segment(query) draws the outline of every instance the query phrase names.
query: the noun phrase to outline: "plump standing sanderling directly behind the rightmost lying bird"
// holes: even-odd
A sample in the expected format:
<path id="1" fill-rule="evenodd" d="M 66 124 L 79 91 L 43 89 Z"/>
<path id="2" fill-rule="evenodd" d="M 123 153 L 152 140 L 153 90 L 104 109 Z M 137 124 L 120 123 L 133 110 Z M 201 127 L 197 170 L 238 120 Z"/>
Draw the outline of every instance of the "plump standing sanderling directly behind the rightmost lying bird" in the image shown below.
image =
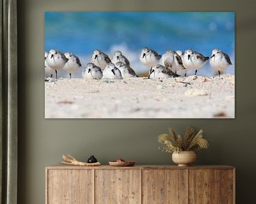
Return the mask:
<path id="1" fill-rule="evenodd" d="M 173 72 L 177 72 L 179 70 L 186 69 L 183 66 L 181 56 L 179 56 L 175 51 L 168 50 L 164 53 L 163 57 L 161 57 L 162 63 L 165 67 L 168 67 Z"/>

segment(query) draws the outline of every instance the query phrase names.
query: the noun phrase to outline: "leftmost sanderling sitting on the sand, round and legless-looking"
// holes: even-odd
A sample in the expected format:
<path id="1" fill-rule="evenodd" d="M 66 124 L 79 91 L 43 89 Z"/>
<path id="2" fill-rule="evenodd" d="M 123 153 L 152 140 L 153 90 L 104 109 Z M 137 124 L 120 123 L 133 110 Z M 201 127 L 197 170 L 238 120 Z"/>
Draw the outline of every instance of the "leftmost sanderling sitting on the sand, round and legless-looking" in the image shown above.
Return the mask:
<path id="1" fill-rule="evenodd" d="M 93 63 L 88 63 L 84 69 L 82 69 L 82 78 L 84 79 L 101 79 L 102 70 Z"/>

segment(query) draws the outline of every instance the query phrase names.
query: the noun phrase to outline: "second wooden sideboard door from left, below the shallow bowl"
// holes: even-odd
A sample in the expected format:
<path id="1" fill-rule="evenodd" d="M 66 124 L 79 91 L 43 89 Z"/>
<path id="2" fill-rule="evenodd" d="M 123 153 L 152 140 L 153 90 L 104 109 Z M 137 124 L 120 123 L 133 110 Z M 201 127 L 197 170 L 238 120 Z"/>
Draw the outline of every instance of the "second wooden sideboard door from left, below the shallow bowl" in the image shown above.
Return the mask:
<path id="1" fill-rule="evenodd" d="M 140 172 L 139 169 L 95 170 L 95 203 L 140 203 Z"/>

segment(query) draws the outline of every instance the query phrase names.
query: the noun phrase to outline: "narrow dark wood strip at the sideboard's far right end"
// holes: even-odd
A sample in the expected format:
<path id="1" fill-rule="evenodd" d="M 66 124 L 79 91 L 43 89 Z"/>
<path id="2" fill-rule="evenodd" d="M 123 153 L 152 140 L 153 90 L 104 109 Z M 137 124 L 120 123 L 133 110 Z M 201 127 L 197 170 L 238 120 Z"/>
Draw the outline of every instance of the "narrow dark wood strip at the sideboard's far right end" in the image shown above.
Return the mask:
<path id="1" fill-rule="evenodd" d="M 220 203 L 233 204 L 235 193 L 234 172 L 230 169 L 220 171 Z"/>

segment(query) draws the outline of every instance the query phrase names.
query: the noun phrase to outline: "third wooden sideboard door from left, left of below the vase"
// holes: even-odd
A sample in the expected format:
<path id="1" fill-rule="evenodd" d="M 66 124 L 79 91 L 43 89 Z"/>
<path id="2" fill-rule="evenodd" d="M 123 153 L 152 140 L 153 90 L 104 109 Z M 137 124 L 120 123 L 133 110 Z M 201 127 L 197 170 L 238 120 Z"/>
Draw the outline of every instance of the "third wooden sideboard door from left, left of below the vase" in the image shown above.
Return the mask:
<path id="1" fill-rule="evenodd" d="M 185 169 L 144 169 L 142 171 L 142 203 L 184 204 L 188 202 Z"/>

